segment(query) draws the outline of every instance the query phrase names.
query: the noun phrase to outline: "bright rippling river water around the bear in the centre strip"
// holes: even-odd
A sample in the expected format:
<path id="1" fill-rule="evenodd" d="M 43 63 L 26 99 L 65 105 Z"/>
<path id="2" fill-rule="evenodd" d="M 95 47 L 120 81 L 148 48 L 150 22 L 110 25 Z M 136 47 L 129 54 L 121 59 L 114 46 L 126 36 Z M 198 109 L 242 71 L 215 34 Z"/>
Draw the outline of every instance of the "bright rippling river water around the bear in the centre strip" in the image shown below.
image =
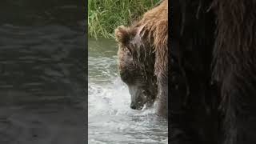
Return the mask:
<path id="1" fill-rule="evenodd" d="M 117 51 L 114 41 L 89 39 L 89 143 L 167 143 L 167 122 L 154 108 L 130 109 L 128 88 L 118 76 Z"/>

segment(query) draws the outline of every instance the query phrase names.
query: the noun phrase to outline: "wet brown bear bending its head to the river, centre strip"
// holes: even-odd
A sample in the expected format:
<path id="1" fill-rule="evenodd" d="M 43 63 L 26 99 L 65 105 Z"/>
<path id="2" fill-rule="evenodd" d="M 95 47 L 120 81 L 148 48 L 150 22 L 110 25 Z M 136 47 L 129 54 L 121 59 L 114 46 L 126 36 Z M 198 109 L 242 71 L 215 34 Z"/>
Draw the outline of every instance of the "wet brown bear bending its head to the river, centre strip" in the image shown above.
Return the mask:
<path id="1" fill-rule="evenodd" d="M 118 68 L 129 87 L 131 108 L 141 109 L 157 98 L 159 115 L 168 112 L 168 0 L 147 11 L 132 26 L 115 30 Z"/>

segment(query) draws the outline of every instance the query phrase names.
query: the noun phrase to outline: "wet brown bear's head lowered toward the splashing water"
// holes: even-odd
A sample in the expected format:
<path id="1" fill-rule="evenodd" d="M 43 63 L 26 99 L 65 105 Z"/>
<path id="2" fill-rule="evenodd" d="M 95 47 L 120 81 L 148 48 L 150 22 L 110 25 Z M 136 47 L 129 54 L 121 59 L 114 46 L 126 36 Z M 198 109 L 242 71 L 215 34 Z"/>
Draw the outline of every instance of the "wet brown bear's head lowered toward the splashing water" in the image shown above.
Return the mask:
<path id="1" fill-rule="evenodd" d="M 130 108 L 151 106 L 158 94 L 154 75 L 154 51 L 139 34 L 143 26 L 119 26 L 115 30 L 118 49 L 118 70 L 131 95 Z"/>

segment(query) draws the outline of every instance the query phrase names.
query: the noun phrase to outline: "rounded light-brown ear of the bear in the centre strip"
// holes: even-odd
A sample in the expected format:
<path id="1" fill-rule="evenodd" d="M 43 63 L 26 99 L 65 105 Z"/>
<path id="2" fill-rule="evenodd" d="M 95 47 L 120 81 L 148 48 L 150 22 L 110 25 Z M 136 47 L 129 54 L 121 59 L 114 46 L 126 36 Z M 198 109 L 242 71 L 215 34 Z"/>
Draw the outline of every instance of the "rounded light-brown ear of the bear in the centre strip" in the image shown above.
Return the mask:
<path id="1" fill-rule="evenodd" d="M 125 46 L 130 41 L 130 33 L 125 26 L 118 26 L 118 28 L 114 30 L 114 34 L 116 41 Z"/>

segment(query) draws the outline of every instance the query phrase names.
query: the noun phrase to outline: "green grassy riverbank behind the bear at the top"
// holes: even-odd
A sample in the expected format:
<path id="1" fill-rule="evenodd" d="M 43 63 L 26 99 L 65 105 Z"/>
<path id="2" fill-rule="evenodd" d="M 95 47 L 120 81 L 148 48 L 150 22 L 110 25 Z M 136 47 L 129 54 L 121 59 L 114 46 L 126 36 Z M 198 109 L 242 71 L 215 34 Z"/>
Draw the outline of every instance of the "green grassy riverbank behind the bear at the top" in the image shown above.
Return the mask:
<path id="1" fill-rule="evenodd" d="M 92 38 L 114 38 L 117 26 L 130 25 L 159 0 L 89 0 L 88 35 Z"/>

